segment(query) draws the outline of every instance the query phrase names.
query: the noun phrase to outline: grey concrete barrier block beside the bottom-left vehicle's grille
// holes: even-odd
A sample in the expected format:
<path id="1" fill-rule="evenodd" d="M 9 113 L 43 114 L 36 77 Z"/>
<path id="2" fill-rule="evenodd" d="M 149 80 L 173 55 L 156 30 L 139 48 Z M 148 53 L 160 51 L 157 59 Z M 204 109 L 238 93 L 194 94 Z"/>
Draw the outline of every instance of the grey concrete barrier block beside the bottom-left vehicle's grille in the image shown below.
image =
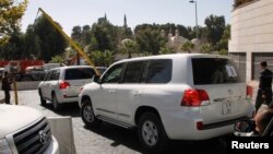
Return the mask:
<path id="1" fill-rule="evenodd" d="M 47 118 L 51 132 L 59 143 L 60 154 L 76 154 L 71 117 Z"/>

